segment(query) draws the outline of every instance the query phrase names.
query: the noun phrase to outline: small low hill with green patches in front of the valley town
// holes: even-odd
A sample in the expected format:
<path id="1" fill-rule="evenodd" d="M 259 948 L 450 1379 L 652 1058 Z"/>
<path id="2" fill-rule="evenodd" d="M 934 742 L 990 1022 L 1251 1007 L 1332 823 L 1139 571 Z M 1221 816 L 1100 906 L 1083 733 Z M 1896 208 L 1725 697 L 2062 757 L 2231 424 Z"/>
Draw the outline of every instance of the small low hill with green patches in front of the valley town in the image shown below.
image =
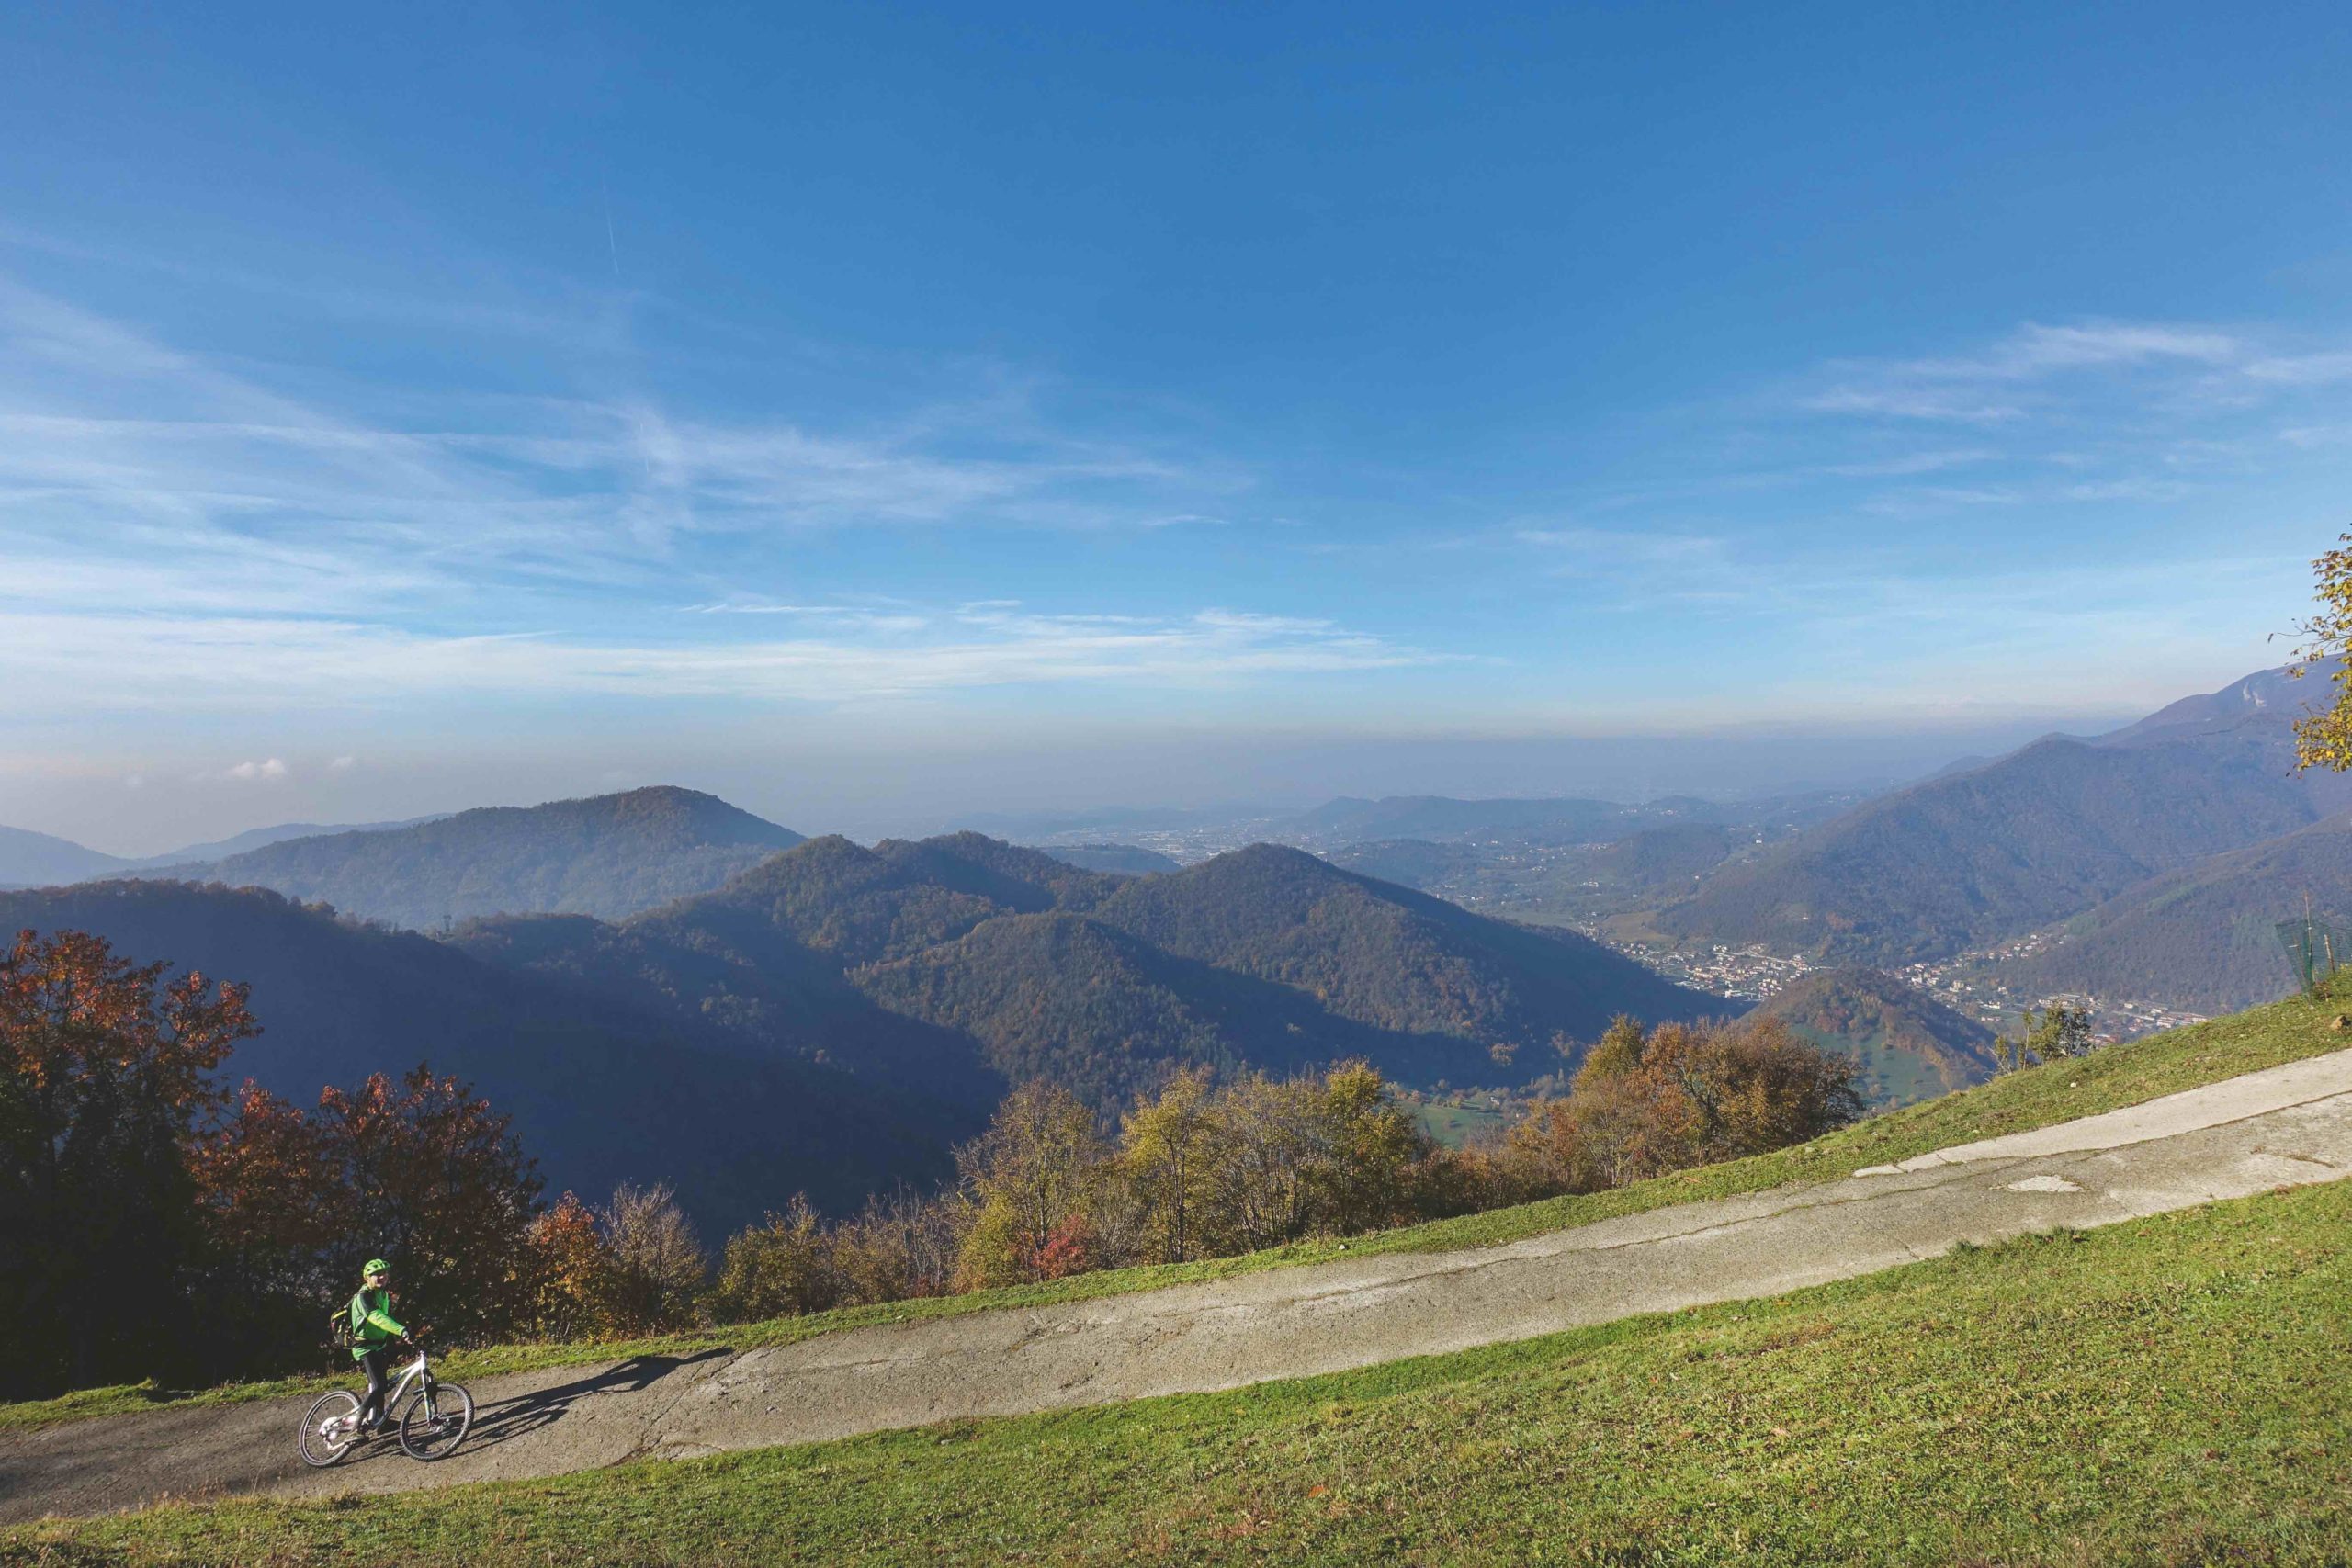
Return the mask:
<path id="1" fill-rule="evenodd" d="M 1757 1004 L 1799 1034 L 1860 1060 L 1872 1105 L 1910 1105 L 1983 1084 L 1992 1030 L 1879 969 L 1816 969 Z"/>

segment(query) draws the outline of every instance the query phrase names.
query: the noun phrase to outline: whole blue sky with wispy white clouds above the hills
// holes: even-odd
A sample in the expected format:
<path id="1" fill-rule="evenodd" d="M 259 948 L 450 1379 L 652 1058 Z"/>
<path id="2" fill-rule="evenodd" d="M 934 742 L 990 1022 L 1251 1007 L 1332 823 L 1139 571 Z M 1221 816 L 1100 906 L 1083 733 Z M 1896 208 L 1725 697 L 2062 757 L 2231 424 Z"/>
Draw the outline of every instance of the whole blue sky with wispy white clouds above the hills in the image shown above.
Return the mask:
<path id="1" fill-rule="evenodd" d="M 2345 527 L 2345 80 L 2340 7 L 14 7 L 0 820 L 2129 715 Z"/>

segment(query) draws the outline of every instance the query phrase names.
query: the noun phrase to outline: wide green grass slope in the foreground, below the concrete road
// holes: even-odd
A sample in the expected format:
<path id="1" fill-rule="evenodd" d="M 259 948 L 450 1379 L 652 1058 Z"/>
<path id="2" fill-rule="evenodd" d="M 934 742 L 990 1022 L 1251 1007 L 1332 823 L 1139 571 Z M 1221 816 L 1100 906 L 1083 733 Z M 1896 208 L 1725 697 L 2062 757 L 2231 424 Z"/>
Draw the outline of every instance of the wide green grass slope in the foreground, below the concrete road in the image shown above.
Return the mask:
<path id="1" fill-rule="evenodd" d="M 2340 1563 L 2352 1190 L 1230 1394 L 0 1537 L 96 1563 Z"/>

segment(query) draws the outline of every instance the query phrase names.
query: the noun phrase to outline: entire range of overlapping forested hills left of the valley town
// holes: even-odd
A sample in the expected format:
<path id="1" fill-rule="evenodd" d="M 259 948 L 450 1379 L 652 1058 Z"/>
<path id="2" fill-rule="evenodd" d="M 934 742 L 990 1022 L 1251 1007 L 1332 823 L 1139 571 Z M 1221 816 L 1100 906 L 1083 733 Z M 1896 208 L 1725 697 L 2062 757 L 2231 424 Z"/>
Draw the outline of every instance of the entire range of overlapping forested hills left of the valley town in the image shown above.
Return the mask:
<path id="1" fill-rule="evenodd" d="M 649 898 L 654 877 L 708 875 L 724 835 L 717 849 L 757 860 L 619 919 L 477 914 L 442 940 L 348 919 Z M 249 980 L 266 1034 L 233 1074 L 308 1103 L 430 1060 L 510 1112 L 557 1187 L 673 1180 L 713 1229 L 795 1190 L 844 1208 L 936 1180 L 1030 1077 L 1105 1117 L 1195 1063 L 1359 1056 L 1418 1086 L 1524 1084 L 1559 1067 L 1555 1041 L 1573 1056 L 1621 1011 L 1724 1011 L 1581 936 L 1296 849 L 1127 877 L 971 832 L 757 844 L 774 835 L 710 797 L 640 790 L 289 839 L 221 860 L 207 884 L 0 893 L 0 922 Z M 223 886 L 256 865 L 346 917 Z"/>

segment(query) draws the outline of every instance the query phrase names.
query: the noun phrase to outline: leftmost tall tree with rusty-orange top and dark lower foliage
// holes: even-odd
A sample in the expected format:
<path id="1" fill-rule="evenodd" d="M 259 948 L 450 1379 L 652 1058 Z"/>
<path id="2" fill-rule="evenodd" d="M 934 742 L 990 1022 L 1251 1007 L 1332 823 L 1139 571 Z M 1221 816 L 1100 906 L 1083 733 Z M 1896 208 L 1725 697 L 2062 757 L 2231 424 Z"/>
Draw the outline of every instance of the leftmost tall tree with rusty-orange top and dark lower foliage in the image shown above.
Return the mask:
<path id="1" fill-rule="evenodd" d="M 146 1375 L 198 1246 L 188 1152 L 256 1025 L 242 985 L 85 931 L 0 954 L 0 1394 Z"/>

